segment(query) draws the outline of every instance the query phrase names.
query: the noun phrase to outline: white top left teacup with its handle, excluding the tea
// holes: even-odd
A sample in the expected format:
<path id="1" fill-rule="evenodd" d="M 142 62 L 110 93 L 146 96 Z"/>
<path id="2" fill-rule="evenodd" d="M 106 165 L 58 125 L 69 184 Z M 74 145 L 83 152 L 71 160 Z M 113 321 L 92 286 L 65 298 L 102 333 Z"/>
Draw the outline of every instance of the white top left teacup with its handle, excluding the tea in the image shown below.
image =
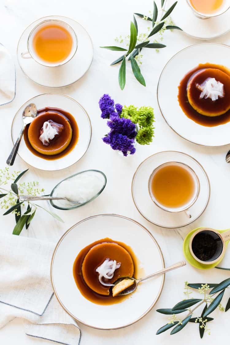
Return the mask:
<path id="1" fill-rule="evenodd" d="M 57 25 L 57 26 L 65 29 L 65 30 L 67 30 L 68 33 L 70 34 L 71 38 L 72 38 L 71 50 L 70 50 L 68 56 L 62 61 L 58 61 L 58 62 L 45 61 L 44 59 L 41 59 L 38 56 L 37 52 L 34 49 L 33 41 L 34 41 L 34 37 L 35 37 L 36 33 L 48 25 Z M 58 20 L 58 19 L 47 19 L 47 20 L 44 20 L 44 21 L 40 22 L 39 24 L 37 24 L 31 30 L 31 32 L 28 36 L 28 39 L 27 39 L 28 51 L 22 52 L 21 56 L 23 59 L 31 59 L 32 58 L 36 62 L 40 63 L 40 65 L 43 65 L 46 67 L 58 67 L 58 66 L 64 65 L 65 63 L 69 62 L 73 58 L 73 56 L 75 55 L 75 53 L 77 51 L 77 47 L 78 47 L 77 35 L 76 35 L 75 31 L 73 30 L 73 28 L 69 24 L 67 24 L 66 22 L 64 22 L 62 20 Z"/>

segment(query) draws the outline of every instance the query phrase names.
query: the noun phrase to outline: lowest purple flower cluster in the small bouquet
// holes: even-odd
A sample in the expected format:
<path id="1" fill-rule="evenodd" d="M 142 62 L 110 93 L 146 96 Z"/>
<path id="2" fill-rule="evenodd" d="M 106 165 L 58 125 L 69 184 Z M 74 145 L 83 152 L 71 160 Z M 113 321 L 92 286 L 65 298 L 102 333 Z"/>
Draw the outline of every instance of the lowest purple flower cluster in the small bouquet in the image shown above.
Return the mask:
<path id="1" fill-rule="evenodd" d="M 124 156 L 133 155 L 136 152 L 136 149 L 133 146 L 134 139 L 127 138 L 126 135 L 122 135 L 116 132 L 109 132 L 109 134 L 102 138 L 102 140 L 111 146 L 113 150 L 122 151 Z"/>

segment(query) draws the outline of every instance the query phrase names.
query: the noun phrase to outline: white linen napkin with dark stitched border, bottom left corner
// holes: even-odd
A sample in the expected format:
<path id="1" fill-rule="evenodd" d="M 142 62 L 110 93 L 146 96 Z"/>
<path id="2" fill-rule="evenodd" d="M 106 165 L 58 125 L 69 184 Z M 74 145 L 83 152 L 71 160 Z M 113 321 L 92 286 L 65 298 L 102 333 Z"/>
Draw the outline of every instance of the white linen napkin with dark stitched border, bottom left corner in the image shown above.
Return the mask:
<path id="1" fill-rule="evenodd" d="M 20 317 L 27 335 L 78 345 L 80 328 L 62 309 L 51 286 L 54 247 L 27 237 L 0 236 L 0 328 Z"/>

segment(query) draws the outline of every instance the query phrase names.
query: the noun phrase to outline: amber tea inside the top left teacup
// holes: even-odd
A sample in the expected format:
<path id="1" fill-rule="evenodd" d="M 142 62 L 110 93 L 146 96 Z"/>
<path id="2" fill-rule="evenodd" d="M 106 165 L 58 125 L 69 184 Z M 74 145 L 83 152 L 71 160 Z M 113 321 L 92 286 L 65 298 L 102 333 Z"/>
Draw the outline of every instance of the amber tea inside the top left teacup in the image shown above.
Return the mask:
<path id="1" fill-rule="evenodd" d="M 36 54 L 46 62 L 64 61 L 69 56 L 72 45 L 71 34 L 60 25 L 43 26 L 33 38 Z"/>

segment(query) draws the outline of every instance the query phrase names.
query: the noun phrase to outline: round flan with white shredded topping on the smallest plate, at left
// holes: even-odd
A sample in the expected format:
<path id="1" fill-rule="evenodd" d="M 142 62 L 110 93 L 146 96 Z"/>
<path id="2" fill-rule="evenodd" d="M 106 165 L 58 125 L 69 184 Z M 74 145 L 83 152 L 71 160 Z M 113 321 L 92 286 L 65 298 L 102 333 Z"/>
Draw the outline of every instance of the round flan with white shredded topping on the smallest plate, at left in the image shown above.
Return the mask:
<path id="1" fill-rule="evenodd" d="M 69 146 L 71 139 L 69 120 L 54 111 L 38 115 L 28 129 L 30 145 L 43 155 L 59 154 Z"/>

